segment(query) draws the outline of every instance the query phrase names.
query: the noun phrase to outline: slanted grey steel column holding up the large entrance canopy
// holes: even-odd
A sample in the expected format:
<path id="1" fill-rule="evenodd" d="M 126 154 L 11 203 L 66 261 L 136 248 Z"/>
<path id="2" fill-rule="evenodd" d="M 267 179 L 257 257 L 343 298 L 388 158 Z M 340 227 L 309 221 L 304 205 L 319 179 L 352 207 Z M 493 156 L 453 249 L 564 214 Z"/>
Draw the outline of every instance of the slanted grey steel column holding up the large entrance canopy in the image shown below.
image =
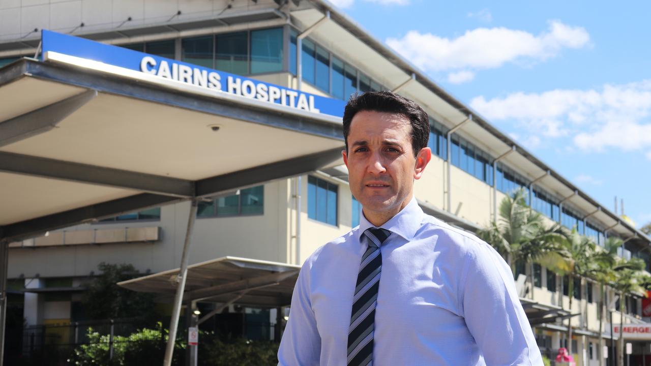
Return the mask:
<path id="1" fill-rule="evenodd" d="M 165 348 L 165 359 L 163 366 L 172 365 L 172 356 L 174 354 L 174 342 L 176 341 L 176 330 L 178 328 L 178 317 L 181 314 L 181 305 L 183 302 L 183 292 L 186 290 L 187 278 L 187 256 L 189 255 L 190 242 L 192 238 L 192 229 L 197 218 L 197 204 L 199 201 L 193 199 L 190 201 L 190 214 L 187 218 L 186 241 L 183 245 L 183 254 L 181 256 L 181 268 L 176 276 L 176 296 L 174 296 L 174 307 L 172 309 L 172 318 L 169 322 L 169 339 L 167 339 L 167 348 Z"/>

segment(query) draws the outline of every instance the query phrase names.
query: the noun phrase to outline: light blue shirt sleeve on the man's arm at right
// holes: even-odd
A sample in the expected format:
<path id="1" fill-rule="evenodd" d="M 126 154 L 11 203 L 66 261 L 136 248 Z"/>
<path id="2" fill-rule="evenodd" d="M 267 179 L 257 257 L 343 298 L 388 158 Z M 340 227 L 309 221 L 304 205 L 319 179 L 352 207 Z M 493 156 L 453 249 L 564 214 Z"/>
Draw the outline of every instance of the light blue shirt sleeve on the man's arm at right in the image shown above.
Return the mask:
<path id="1" fill-rule="evenodd" d="M 510 268 L 488 244 L 472 247 L 462 275 L 462 306 L 486 365 L 542 366 Z"/>

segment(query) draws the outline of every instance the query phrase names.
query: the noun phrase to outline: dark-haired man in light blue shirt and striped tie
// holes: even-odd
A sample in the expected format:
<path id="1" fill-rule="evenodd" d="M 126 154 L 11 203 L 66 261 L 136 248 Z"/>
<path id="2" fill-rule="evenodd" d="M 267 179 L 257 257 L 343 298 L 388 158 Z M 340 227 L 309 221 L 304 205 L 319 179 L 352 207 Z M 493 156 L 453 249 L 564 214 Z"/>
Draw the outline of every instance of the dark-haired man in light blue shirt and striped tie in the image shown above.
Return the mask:
<path id="1" fill-rule="evenodd" d="M 413 197 L 432 158 L 427 114 L 368 92 L 343 122 L 363 217 L 305 260 L 279 365 L 542 365 L 505 261 Z"/>

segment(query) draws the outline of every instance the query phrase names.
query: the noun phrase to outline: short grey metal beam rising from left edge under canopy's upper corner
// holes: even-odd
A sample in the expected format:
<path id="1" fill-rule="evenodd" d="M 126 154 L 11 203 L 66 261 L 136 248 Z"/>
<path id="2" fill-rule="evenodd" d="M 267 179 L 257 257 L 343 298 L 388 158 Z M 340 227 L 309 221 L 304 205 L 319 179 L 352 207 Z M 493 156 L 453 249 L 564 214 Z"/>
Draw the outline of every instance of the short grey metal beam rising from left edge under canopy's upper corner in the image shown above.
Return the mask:
<path id="1" fill-rule="evenodd" d="M 95 96 L 97 96 L 97 91 L 85 91 L 49 106 L 0 122 L 0 147 L 48 132 Z"/>

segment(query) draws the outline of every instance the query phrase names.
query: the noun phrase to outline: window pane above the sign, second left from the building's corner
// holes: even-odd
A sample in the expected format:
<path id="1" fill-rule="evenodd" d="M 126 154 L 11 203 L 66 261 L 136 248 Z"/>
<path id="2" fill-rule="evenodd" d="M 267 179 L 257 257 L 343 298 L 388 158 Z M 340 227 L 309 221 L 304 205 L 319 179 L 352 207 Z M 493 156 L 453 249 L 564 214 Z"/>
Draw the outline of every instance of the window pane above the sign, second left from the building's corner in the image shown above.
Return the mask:
<path id="1" fill-rule="evenodd" d="M 215 68 L 233 74 L 249 74 L 246 32 L 215 35 Z"/>

